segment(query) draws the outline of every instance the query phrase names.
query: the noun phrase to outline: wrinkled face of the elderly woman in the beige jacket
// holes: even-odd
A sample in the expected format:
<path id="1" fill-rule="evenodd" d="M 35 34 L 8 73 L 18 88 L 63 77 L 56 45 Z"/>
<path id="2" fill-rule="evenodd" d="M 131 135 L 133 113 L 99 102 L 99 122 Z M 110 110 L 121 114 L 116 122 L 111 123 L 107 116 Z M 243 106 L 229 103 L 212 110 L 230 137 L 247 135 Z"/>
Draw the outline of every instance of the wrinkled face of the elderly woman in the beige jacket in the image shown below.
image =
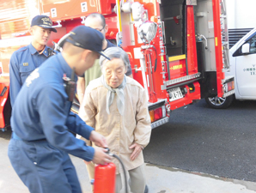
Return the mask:
<path id="1" fill-rule="evenodd" d="M 119 87 L 125 78 L 125 72 L 125 63 L 122 59 L 113 58 L 110 61 L 104 61 L 102 74 L 108 86 L 113 88 Z"/>

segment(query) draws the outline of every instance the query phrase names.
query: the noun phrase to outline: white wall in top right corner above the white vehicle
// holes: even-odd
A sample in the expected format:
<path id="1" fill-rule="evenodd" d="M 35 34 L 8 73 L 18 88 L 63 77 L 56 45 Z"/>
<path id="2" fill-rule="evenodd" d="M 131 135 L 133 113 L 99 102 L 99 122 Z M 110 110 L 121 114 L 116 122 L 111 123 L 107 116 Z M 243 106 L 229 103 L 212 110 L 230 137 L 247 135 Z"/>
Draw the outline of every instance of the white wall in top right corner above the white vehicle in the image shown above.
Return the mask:
<path id="1" fill-rule="evenodd" d="M 228 28 L 256 27 L 256 0 L 226 0 Z"/>

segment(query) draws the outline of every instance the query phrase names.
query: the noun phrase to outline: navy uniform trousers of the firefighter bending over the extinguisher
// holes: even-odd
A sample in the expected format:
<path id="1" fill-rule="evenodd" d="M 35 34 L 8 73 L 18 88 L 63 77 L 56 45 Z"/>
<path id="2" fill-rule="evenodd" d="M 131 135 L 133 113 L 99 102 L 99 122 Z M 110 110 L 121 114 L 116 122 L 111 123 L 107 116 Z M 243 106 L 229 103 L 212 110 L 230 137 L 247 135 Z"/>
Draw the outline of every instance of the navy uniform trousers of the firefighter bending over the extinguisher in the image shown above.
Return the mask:
<path id="1" fill-rule="evenodd" d="M 9 160 L 32 193 L 82 193 L 69 154 L 46 140 L 27 142 L 12 138 Z"/>

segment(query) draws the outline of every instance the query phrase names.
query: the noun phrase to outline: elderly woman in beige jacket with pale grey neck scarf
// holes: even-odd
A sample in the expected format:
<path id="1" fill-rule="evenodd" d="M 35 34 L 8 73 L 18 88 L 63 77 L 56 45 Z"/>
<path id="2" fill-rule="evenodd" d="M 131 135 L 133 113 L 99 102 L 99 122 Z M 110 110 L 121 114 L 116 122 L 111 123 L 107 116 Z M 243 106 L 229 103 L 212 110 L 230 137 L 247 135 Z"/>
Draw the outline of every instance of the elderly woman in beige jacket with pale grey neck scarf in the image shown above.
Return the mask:
<path id="1" fill-rule="evenodd" d="M 111 60 L 100 58 L 102 75 L 90 81 L 79 115 L 106 137 L 110 151 L 124 162 L 130 176 L 131 192 L 143 193 L 146 184 L 143 148 L 148 145 L 151 134 L 146 92 L 137 81 L 125 76 L 130 65 L 125 51 L 111 47 L 104 53 Z M 122 171 L 118 160 L 113 162 L 117 166 L 118 193 L 122 188 Z"/>

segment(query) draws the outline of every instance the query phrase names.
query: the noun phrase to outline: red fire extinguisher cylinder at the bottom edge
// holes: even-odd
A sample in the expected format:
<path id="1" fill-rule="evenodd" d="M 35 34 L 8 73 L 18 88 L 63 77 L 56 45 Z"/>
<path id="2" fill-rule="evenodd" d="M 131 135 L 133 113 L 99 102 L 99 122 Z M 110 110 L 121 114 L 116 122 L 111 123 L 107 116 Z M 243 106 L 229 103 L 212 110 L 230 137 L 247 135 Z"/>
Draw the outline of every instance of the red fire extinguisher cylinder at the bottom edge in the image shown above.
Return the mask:
<path id="1" fill-rule="evenodd" d="M 115 175 L 116 166 L 113 163 L 95 166 L 94 193 L 114 193 Z"/>

